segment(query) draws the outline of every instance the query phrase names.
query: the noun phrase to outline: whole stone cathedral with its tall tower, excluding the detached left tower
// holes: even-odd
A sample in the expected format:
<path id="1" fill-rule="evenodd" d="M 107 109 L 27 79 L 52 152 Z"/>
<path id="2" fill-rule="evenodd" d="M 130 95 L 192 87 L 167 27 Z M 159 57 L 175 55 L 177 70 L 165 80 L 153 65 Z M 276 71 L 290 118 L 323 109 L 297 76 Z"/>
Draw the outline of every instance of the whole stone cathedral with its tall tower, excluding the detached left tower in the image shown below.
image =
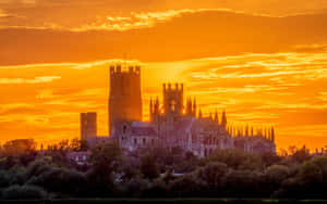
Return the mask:
<path id="1" fill-rule="evenodd" d="M 217 111 L 204 116 L 196 99 L 185 98 L 183 84 L 164 84 L 162 101 L 155 97 L 148 105 L 149 122 L 145 123 L 142 122 L 141 67 L 110 66 L 108 139 L 119 142 L 123 150 L 181 148 L 199 157 L 223 149 L 276 152 L 272 127 L 232 127 L 225 111 L 221 117 Z"/>

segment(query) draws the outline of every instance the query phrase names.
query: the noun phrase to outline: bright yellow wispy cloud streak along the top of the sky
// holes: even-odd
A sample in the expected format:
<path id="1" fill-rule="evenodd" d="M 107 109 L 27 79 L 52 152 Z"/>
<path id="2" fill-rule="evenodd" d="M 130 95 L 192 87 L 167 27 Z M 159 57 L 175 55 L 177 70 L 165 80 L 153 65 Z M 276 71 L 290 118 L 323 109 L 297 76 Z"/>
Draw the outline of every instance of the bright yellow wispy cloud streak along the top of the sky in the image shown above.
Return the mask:
<path id="1" fill-rule="evenodd" d="M 95 22 L 85 22 L 77 25 L 65 25 L 60 22 L 36 22 L 33 23 L 31 18 L 25 17 L 23 22 L 17 24 L 11 24 L 10 21 L 7 25 L 0 26 L 2 29 L 8 28 L 25 28 L 25 29 L 57 29 L 66 31 L 87 31 L 87 30 L 130 30 L 154 27 L 158 23 L 170 21 L 174 17 L 181 17 L 183 15 L 196 14 L 202 12 L 228 12 L 235 14 L 244 14 L 242 11 L 233 11 L 230 9 L 182 9 L 182 10 L 167 10 L 156 12 L 131 12 L 126 16 L 108 15 L 102 16 L 101 20 Z M 265 16 L 264 14 L 254 16 Z M 3 16 L 12 16 L 4 14 Z M 1 12 L 0 12 L 1 17 Z"/>

